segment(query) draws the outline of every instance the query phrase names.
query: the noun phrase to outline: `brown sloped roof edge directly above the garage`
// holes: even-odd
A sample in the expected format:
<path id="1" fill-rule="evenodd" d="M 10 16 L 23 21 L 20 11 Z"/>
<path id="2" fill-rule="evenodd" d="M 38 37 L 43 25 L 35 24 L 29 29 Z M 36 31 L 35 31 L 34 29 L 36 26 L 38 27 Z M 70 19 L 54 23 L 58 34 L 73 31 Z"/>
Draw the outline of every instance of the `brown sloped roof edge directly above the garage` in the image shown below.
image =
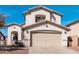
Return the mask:
<path id="1" fill-rule="evenodd" d="M 55 26 L 55 27 L 58 27 L 58 28 L 60 28 L 60 29 L 67 30 L 67 31 L 70 30 L 70 29 L 68 29 L 68 28 L 66 28 L 66 27 L 64 27 L 64 26 L 58 25 L 58 24 L 53 23 L 53 22 L 50 22 L 50 21 L 43 21 L 43 22 L 40 22 L 40 23 L 32 24 L 32 25 L 29 25 L 29 26 L 25 26 L 25 27 L 23 27 L 22 29 L 32 29 L 32 28 L 35 28 L 35 27 L 42 26 L 42 25 L 44 25 L 44 24 L 51 24 L 51 25 L 53 25 L 53 26 Z M 51 28 L 50 28 L 50 29 L 51 29 Z"/>

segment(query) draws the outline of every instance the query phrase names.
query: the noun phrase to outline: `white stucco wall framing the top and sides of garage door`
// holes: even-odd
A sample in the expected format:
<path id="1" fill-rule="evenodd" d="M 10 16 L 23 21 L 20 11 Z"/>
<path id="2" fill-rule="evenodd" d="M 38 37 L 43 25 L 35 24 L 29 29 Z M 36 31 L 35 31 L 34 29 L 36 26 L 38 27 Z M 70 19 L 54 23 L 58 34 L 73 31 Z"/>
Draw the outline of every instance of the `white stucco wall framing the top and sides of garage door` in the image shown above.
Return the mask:
<path id="1" fill-rule="evenodd" d="M 28 30 L 25 30 L 25 39 L 27 39 L 28 41 L 28 45 L 30 44 L 30 31 L 34 31 L 34 30 L 55 30 L 55 31 L 60 31 L 62 32 L 61 34 L 61 45 L 62 46 L 67 46 L 67 34 L 65 34 L 65 30 L 64 29 L 60 29 L 56 26 L 50 25 L 48 24 L 48 27 L 46 27 L 46 25 L 42 25 L 42 26 L 38 26 L 36 28 L 32 28 Z"/>

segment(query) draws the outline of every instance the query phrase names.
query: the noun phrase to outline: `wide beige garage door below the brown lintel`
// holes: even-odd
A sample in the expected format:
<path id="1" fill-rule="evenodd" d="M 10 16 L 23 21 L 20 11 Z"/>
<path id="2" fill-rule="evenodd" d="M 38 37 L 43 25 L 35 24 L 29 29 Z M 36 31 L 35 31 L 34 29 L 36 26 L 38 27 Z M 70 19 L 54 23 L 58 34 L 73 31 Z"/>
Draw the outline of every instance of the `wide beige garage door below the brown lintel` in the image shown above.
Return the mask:
<path id="1" fill-rule="evenodd" d="M 61 34 L 32 34 L 32 46 L 35 47 L 59 47 L 61 46 Z"/>

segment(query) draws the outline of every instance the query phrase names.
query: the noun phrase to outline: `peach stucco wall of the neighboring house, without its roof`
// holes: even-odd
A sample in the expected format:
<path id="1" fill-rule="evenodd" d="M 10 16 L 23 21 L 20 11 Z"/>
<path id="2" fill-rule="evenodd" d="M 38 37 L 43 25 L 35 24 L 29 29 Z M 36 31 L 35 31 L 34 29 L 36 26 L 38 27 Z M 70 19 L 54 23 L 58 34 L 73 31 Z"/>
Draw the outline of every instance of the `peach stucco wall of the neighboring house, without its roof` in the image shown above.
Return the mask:
<path id="1" fill-rule="evenodd" d="M 78 46 L 79 23 L 73 24 L 69 28 L 71 30 L 68 32 L 68 36 L 72 38 L 72 46 Z"/>

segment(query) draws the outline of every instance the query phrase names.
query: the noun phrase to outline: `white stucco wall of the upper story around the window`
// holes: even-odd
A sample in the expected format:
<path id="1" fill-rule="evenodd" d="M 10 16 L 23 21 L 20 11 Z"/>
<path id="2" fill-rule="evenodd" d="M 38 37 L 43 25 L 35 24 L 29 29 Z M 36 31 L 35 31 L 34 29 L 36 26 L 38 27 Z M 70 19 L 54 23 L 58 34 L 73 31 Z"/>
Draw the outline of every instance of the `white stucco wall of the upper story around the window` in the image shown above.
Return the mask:
<path id="1" fill-rule="evenodd" d="M 45 20 L 49 20 L 50 21 L 50 13 L 45 11 L 45 10 L 38 10 L 38 11 L 34 11 L 31 12 L 31 14 L 28 14 L 25 16 L 26 19 L 26 24 L 30 25 L 30 24 L 34 24 L 35 23 L 35 15 L 37 14 L 43 14 L 46 15 L 46 19 Z M 53 13 L 54 17 L 56 18 L 56 23 L 61 24 L 61 16 L 59 16 L 58 14 Z M 51 17 L 52 22 L 53 22 L 53 18 Z"/>

